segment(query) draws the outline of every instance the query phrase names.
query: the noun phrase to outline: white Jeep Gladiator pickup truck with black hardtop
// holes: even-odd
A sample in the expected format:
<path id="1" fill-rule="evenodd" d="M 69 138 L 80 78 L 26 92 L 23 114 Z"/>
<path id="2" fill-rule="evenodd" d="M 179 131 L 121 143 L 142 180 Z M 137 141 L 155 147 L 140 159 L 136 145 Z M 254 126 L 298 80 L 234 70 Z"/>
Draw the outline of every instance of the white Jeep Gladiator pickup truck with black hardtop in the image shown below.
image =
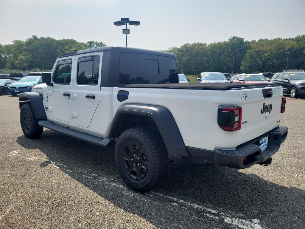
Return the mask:
<path id="1" fill-rule="evenodd" d="M 101 47 L 58 57 L 42 84 L 19 96 L 28 138 L 43 128 L 102 147 L 115 144 L 124 182 L 148 191 L 169 156 L 231 168 L 271 164 L 287 137 L 276 84 L 178 83 L 174 54 Z"/>

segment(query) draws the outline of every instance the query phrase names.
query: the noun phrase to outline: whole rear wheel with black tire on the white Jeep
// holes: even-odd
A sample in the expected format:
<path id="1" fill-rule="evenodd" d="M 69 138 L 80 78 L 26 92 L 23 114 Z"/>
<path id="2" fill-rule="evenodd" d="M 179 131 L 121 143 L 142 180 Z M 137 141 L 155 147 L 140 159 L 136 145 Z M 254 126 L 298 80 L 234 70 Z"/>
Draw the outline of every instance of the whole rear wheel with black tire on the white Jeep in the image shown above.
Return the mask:
<path id="1" fill-rule="evenodd" d="M 136 127 L 117 139 L 115 161 L 123 181 L 135 191 L 145 192 L 166 176 L 168 154 L 156 131 Z"/>

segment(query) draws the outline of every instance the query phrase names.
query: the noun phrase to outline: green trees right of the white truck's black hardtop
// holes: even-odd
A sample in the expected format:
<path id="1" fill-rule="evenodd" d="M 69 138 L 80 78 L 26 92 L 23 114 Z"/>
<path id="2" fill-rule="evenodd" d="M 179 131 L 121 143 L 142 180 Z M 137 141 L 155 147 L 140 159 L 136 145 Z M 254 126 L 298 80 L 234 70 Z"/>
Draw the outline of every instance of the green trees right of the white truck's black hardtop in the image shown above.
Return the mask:
<path id="1" fill-rule="evenodd" d="M 288 55 L 285 49 L 294 49 L 289 51 L 288 68 L 304 69 L 305 35 L 257 41 L 231 37 L 224 42 L 186 43 L 181 47 L 174 46 L 163 51 L 176 54 L 179 73 L 198 75 L 206 71 L 232 73 L 233 56 L 234 73 L 282 71 L 286 68 L 284 64 Z"/>

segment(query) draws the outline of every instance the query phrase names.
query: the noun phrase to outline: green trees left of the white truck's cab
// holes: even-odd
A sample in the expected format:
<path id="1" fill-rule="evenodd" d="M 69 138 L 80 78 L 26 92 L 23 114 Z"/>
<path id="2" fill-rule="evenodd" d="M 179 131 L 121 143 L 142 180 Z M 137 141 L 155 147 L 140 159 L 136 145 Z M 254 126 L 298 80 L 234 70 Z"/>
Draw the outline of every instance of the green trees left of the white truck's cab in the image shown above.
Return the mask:
<path id="1" fill-rule="evenodd" d="M 12 44 L 0 44 L 0 69 L 31 70 L 34 65 L 37 69 L 52 69 L 57 56 L 70 53 L 74 50 L 90 49 L 106 46 L 103 42 L 78 42 L 74 39 L 59 39 L 51 37 L 37 37 L 22 40 L 13 40 Z M 34 52 L 32 53 L 33 50 Z"/>

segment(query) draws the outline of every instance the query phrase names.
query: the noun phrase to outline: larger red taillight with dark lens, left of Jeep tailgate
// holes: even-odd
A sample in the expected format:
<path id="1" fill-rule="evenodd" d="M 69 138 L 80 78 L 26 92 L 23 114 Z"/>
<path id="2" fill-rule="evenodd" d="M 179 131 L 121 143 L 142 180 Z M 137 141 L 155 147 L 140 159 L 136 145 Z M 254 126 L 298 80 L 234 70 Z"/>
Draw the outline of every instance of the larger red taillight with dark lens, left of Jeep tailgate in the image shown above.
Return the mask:
<path id="1" fill-rule="evenodd" d="M 226 131 L 240 130 L 242 124 L 241 107 L 218 107 L 218 125 Z"/>

